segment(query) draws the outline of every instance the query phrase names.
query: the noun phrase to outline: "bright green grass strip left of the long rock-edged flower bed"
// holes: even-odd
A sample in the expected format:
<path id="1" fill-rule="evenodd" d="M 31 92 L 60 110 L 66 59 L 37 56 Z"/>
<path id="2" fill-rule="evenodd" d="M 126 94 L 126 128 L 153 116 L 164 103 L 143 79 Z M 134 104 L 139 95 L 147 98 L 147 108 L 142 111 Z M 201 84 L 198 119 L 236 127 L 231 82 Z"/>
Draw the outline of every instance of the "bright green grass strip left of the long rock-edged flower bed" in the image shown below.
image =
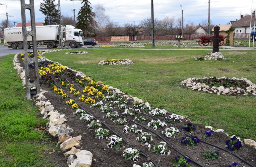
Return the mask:
<path id="1" fill-rule="evenodd" d="M 47 120 L 37 118 L 38 108 L 26 100 L 13 57 L 0 57 L 0 166 L 53 166 L 44 150 L 54 144 L 45 132 L 37 131 Z"/>

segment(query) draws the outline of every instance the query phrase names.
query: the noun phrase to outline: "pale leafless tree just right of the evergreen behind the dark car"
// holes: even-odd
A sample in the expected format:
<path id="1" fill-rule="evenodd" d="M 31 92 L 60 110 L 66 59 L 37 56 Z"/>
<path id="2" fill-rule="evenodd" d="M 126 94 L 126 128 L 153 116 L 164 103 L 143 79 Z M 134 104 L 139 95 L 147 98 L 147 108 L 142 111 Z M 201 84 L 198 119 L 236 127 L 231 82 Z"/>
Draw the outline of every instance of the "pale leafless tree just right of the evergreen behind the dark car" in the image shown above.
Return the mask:
<path id="1" fill-rule="evenodd" d="M 104 27 L 109 23 L 109 17 L 105 15 L 105 8 L 102 5 L 96 5 L 94 8 L 95 21 L 92 22 L 92 27 L 94 27 L 95 35 L 100 36 L 104 34 Z"/>

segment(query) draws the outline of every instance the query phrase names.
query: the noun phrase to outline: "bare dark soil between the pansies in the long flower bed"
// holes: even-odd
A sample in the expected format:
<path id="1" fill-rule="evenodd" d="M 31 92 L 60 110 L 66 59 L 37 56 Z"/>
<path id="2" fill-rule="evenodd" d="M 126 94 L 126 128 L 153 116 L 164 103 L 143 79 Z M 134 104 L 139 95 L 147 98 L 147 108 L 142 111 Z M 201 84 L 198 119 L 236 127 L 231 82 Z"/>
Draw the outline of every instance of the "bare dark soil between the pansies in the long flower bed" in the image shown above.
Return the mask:
<path id="1" fill-rule="evenodd" d="M 21 60 L 20 60 L 21 61 Z M 22 61 L 21 61 L 22 62 Z M 64 74 L 63 74 L 64 75 Z M 69 78 L 67 75 L 65 75 L 65 77 L 67 77 L 67 80 L 71 83 L 73 80 L 71 78 Z M 55 79 L 54 76 L 52 76 L 53 79 Z M 64 79 L 64 78 L 62 78 Z M 82 148 L 83 150 L 89 150 L 93 153 L 93 162 L 92 162 L 92 166 L 93 167 L 112 167 L 112 166 L 123 166 L 123 167 L 131 167 L 133 166 L 134 162 L 132 161 L 125 161 L 125 159 L 121 156 L 122 152 L 124 149 L 121 150 L 111 150 L 107 148 L 107 143 L 109 143 L 108 140 L 106 139 L 102 139 L 99 140 L 97 138 L 95 138 L 95 129 L 87 129 L 87 123 L 84 121 L 81 121 L 79 118 L 80 116 L 77 115 L 73 115 L 73 112 L 75 112 L 75 110 L 73 110 L 71 108 L 71 106 L 68 106 L 65 104 L 66 101 L 69 100 L 69 98 L 65 98 L 62 99 L 60 95 L 57 95 L 55 92 L 53 92 L 53 90 L 51 90 L 47 84 L 44 83 L 44 81 L 41 80 L 41 82 L 43 83 L 40 87 L 43 90 L 47 90 L 48 93 L 44 93 L 44 95 L 46 96 L 47 100 L 49 100 L 51 102 L 51 104 L 54 106 L 55 110 L 58 110 L 58 112 L 60 114 L 65 114 L 67 117 L 67 121 L 65 123 L 67 123 L 69 125 L 70 128 L 74 129 L 74 134 L 72 134 L 72 136 L 79 136 L 82 135 L 82 140 L 81 142 L 83 143 Z M 78 86 L 81 90 L 83 90 L 82 86 L 80 86 L 77 83 L 73 83 L 75 86 L 74 88 L 77 89 L 76 86 Z M 58 84 L 58 86 L 60 86 L 60 84 Z M 74 96 L 74 94 L 70 94 L 69 91 L 65 88 L 62 88 L 65 93 L 67 93 L 67 95 L 69 95 L 70 97 L 76 99 L 77 103 L 80 104 L 84 109 L 86 109 L 88 112 L 90 112 L 95 118 L 103 121 L 105 124 L 107 124 L 114 132 L 118 133 L 119 135 L 122 136 L 122 138 L 124 140 L 126 140 L 132 147 L 142 151 L 143 153 L 147 154 L 150 158 L 146 159 L 145 157 L 143 157 L 142 155 L 140 156 L 140 160 L 138 162 L 136 162 L 136 164 L 142 164 L 144 162 L 149 162 L 150 159 L 154 160 L 159 166 L 161 167 L 169 167 L 172 166 L 171 161 L 174 160 L 174 158 L 179 155 L 174 149 L 172 149 L 169 145 L 168 149 L 171 151 L 170 155 L 157 155 L 155 153 L 153 153 L 152 151 L 149 151 L 147 146 L 142 146 L 140 145 L 140 143 L 138 141 L 135 140 L 135 138 L 137 137 L 136 134 L 134 133 L 128 133 L 125 134 L 123 133 L 123 128 L 124 125 L 115 125 L 113 123 L 112 120 L 109 119 L 105 119 L 103 118 L 103 116 L 106 115 L 106 113 L 101 113 L 100 109 L 92 109 L 90 108 L 90 105 L 86 104 L 85 102 L 80 102 L 78 97 Z M 132 107 L 132 101 L 129 101 L 127 104 L 127 106 Z M 117 110 L 117 106 L 113 106 L 113 110 L 117 111 L 119 113 L 119 115 L 122 115 L 123 111 L 118 111 Z M 140 116 L 140 115 L 144 115 L 144 114 L 137 114 L 136 116 Z M 168 114 L 167 114 L 168 115 Z M 134 117 L 127 117 L 130 119 L 134 119 Z M 152 118 L 149 117 L 147 122 L 142 122 L 141 124 L 144 125 L 145 127 L 147 127 L 147 123 L 149 121 L 151 121 Z M 164 117 L 158 117 L 158 119 L 160 120 L 164 120 Z M 167 123 L 167 122 L 166 122 Z M 182 120 L 181 123 L 174 123 L 172 126 L 175 126 L 176 128 L 178 128 L 179 130 L 182 129 L 182 126 L 185 126 L 187 123 L 189 123 L 186 120 Z M 128 124 L 131 126 L 133 124 L 135 124 L 132 121 L 128 121 Z M 168 124 L 168 127 L 171 124 Z M 216 133 L 214 132 L 214 136 L 212 136 L 211 138 L 203 138 L 203 135 L 206 131 L 209 131 L 209 129 L 205 128 L 205 125 L 201 125 L 201 124 L 194 124 L 196 126 L 196 130 L 194 130 L 192 133 L 188 133 L 186 132 L 186 134 L 188 135 L 193 135 L 193 136 L 197 136 L 200 139 L 202 139 L 203 141 L 206 142 L 210 142 L 214 145 L 217 145 L 221 148 L 224 148 L 225 145 L 225 141 L 229 139 L 228 136 L 226 136 L 224 133 Z M 223 151 L 223 150 L 219 150 L 216 149 L 210 145 L 207 145 L 205 143 L 200 142 L 199 144 L 197 144 L 195 147 L 192 146 L 185 146 L 182 143 L 180 143 L 180 139 L 182 137 L 185 137 L 185 135 L 183 133 L 180 132 L 180 134 L 178 134 L 175 138 L 171 137 L 171 138 L 166 138 L 164 137 L 164 135 L 161 134 L 162 130 L 165 130 L 165 128 L 167 127 L 163 127 L 160 128 L 156 131 L 150 132 L 148 129 L 137 125 L 138 129 L 142 129 L 143 131 L 146 131 L 148 133 L 152 134 L 152 137 L 154 139 L 154 141 L 151 143 L 151 148 L 158 144 L 160 141 L 163 141 L 162 139 L 160 139 L 160 137 L 158 137 L 156 134 L 159 134 L 160 136 L 162 136 L 166 141 L 168 141 L 173 147 L 177 148 L 180 152 L 182 152 L 183 154 L 186 154 L 187 156 L 189 156 L 190 158 L 192 158 L 193 160 L 197 161 L 198 163 L 200 163 L 203 166 L 209 166 L 209 167 L 226 167 L 230 164 L 232 164 L 232 162 L 238 162 L 239 166 L 248 166 L 246 163 L 242 162 L 241 160 L 239 160 L 238 158 L 234 157 L 233 155 Z M 107 129 L 106 126 L 103 125 L 104 129 Z M 148 127 L 149 129 L 153 130 L 153 128 Z M 155 134 L 156 133 L 156 134 Z M 109 130 L 109 136 L 113 135 L 113 133 Z M 57 138 L 53 139 L 55 141 L 57 141 Z M 128 146 L 124 141 L 123 144 L 126 148 L 130 147 Z M 220 151 L 220 156 L 221 158 L 215 161 L 206 161 L 205 158 L 203 157 L 203 153 L 206 152 L 208 149 L 215 149 Z M 250 163 L 253 163 L 253 165 L 256 165 L 254 159 L 256 157 L 256 150 L 254 147 L 250 147 L 248 145 L 244 145 L 242 150 L 235 150 L 233 151 L 233 153 L 237 154 L 238 156 L 244 158 L 245 160 L 247 160 Z M 59 151 L 55 151 L 55 153 L 51 154 L 50 156 L 50 162 L 56 162 L 55 164 L 58 164 L 60 166 L 65 166 L 66 164 L 66 159 L 63 153 L 59 152 Z M 197 166 L 195 164 L 191 164 L 192 166 Z"/>

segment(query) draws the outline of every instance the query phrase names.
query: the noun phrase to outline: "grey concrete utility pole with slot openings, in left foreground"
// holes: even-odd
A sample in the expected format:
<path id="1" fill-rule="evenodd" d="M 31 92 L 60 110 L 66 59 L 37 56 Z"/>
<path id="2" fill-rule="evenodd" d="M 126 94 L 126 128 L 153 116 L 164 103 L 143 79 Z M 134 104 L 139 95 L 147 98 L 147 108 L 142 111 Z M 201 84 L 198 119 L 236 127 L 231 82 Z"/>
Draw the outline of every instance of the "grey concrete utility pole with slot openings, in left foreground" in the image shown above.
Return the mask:
<path id="1" fill-rule="evenodd" d="M 26 9 L 30 11 L 31 17 L 31 31 L 27 31 L 26 27 Z M 21 17 L 22 17 L 22 32 L 23 32 L 23 49 L 24 49 L 24 65 L 25 65 L 25 79 L 27 89 L 27 99 L 35 97 L 40 93 L 39 74 L 38 74 L 38 58 L 37 58 L 37 42 L 35 32 L 35 10 L 34 0 L 30 0 L 30 4 L 26 4 L 25 0 L 21 0 Z M 28 55 L 28 36 L 32 36 L 33 55 Z M 29 64 L 34 65 L 34 69 L 29 67 Z M 32 71 L 30 71 L 32 70 Z M 33 89 L 35 87 L 35 89 Z"/>

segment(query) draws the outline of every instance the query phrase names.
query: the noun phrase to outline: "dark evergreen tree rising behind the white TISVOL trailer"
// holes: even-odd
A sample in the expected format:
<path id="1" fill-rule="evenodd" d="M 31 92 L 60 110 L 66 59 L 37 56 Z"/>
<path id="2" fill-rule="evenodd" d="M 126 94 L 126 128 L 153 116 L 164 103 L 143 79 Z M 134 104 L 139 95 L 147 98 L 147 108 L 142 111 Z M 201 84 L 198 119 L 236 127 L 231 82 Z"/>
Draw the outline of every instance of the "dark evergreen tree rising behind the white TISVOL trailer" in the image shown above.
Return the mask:
<path id="1" fill-rule="evenodd" d="M 43 0 L 40 3 L 39 11 L 45 15 L 44 25 L 55 25 L 59 22 L 57 4 L 54 4 L 55 0 Z"/>

